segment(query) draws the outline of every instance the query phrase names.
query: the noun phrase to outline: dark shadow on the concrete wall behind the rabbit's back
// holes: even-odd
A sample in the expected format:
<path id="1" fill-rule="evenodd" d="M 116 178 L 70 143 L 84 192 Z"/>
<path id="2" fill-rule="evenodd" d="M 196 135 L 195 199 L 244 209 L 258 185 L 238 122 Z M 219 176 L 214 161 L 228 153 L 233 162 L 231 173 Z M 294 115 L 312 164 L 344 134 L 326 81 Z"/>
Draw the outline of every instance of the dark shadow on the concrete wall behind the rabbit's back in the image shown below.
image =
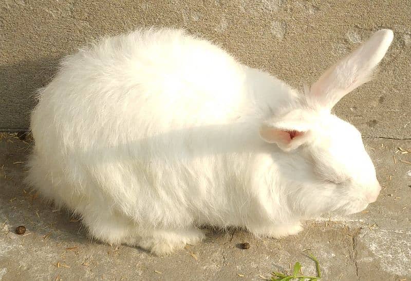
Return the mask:
<path id="1" fill-rule="evenodd" d="M 0 65 L 0 108 L 3 112 L 0 114 L 0 131 L 15 132 L 29 128 L 30 112 L 36 103 L 36 90 L 51 80 L 60 59 L 46 57 Z M 8 116 L 4 112 L 8 112 Z"/>

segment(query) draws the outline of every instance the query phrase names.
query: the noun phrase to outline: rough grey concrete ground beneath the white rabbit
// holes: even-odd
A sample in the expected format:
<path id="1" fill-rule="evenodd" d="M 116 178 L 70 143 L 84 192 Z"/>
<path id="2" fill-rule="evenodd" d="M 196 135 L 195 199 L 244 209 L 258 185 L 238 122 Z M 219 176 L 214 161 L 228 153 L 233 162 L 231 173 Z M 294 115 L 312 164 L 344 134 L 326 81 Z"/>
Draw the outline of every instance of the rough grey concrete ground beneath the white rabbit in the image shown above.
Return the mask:
<path id="1" fill-rule="evenodd" d="M 364 139 L 383 190 L 360 214 L 324 216 L 284 239 L 206 229 L 203 243 L 156 257 L 88 239 L 77 218 L 54 210 L 22 183 L 31 140 L 0 136 L 0 280 L 259 280 L 290 271 L 297 261 L 315 275 L 306 249 L 318 258 L 323 280 L 411 279 L 409 140 Z M 20 225 L 24 235 L 15 234 Z M 244 242 L 250 249 L 238 247 Z"/>

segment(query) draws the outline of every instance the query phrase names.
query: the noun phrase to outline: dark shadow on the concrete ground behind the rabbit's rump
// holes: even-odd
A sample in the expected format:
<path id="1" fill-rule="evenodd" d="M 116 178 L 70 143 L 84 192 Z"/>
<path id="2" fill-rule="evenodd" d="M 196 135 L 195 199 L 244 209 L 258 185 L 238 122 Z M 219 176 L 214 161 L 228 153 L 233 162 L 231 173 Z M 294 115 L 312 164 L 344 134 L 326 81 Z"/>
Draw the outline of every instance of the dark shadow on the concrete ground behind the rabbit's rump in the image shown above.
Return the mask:
<path id="1" fill-rule="evenodd" d="M 32 139 L 19 140 L 15 135 L 0 139 L 0 163 L 4 163 L 0 165 L 0 230 L 14 233 L 17 226 L 25 226 L 23 235 L 36 240 L 90 240 L 79 217 L 58 210 L 24 183 L 25 163 L 32 146 Z"/>

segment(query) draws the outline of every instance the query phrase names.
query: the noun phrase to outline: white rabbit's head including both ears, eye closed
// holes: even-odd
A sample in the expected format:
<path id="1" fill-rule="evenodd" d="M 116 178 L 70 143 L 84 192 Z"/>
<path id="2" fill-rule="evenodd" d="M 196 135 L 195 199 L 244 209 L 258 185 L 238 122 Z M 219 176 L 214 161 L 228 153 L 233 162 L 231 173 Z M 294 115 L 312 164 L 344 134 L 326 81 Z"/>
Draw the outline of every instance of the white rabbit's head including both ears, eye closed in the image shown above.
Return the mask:
<path id="1" fill-rule="evenodd" d="M 305 177 L 311 186 L 300 187 L 293 195 L 294 207 L 307 215 L 356 213 L 377 199 L 381 187 L 361 133 L 331 114 L 331 109 L 368 81 L 393 36 L 391 30 L 373 34 L 306 90 L 301 106 L 271 117 L 260 128 L 266 142 L 277 144 L 285 153 L 304 155 L 309 170 Z"/>

